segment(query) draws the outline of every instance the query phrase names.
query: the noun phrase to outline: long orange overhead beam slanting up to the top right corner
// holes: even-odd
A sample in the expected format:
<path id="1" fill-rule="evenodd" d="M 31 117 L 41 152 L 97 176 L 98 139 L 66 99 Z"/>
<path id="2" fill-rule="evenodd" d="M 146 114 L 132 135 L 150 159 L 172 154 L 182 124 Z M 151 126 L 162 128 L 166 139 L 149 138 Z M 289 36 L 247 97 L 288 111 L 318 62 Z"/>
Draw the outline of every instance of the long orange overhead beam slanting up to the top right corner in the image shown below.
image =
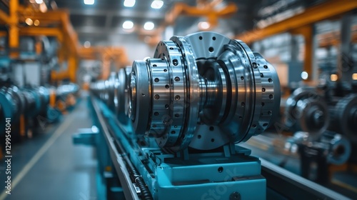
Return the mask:
<path id="1" fill-rule="evenodd" d="M 236 39 L 241 39 L 246 43 L 258 41 L 268 36 L 280 34 L 285 31 L 298 29 L 301 26 L 316 23 L 323 19 L 329 19 L 333 16 L 346 13 L 353 9 L 357 9 L 357 1 L 354 0 L 340 0 L 340 1 L 326 1 L 317 6 L 306 9 L 301 14 L 296 14 L 291 18 L 279 21 L 276 24 L 271 24 L 263 29 L 254 29 L 253 31 L 244 32 L 235 36 Z"/>

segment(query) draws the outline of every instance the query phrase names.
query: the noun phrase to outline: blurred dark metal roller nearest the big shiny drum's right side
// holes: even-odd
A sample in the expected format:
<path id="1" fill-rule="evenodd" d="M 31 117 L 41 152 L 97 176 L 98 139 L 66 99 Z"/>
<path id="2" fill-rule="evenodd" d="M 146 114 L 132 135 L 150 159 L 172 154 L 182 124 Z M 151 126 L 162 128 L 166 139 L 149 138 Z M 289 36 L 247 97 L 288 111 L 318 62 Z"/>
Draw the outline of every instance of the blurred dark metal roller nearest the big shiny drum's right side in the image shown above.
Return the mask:
<path id="1" fill-rule="evenodd" d="M 322 96 L 311 88 L 298 88 L 286 100 L 285 124 L 294 131 L 308 132 L 315 141 L 329 124 L 329 113 Z"/>

